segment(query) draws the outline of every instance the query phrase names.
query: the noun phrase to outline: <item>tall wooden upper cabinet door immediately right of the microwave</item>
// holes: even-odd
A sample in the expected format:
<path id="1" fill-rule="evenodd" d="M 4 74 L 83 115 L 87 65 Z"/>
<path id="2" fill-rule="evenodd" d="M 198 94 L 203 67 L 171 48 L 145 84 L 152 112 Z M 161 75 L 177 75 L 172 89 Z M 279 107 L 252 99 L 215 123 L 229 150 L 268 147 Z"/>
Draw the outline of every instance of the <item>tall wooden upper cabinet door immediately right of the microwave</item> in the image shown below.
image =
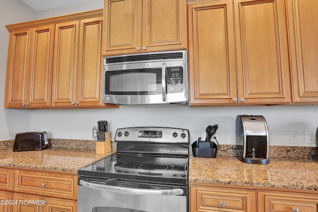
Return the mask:
<path id="1" fill-rule="evenodd" d="M 232 2 L 188 4 L 188 18 L 190 105 L 237 104 Z"/>

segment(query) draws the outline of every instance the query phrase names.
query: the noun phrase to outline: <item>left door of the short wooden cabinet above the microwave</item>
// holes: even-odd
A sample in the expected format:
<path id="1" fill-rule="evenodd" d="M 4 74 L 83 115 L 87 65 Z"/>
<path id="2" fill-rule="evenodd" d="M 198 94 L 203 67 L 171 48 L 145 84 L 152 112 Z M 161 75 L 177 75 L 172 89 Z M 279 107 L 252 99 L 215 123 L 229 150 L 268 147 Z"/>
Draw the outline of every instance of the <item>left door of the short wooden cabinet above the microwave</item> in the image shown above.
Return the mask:
<path id="1" fill-rule="evenodd" d="M 102 55 L 141 53 L 142 0 L 104 0 Z"/>

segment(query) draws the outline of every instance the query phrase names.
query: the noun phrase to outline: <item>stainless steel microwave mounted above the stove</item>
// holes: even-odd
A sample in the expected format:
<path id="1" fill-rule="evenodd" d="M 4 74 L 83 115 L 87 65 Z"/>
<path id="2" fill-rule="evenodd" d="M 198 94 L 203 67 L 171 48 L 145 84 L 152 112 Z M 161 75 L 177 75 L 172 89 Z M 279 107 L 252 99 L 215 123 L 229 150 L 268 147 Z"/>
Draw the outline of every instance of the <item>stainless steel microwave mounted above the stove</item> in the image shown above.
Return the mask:
<path id="1" fill-rule="evenodd" d="M 103 58 L 102 102 L 119 105 L 188 103 L 187 51 Z"/>

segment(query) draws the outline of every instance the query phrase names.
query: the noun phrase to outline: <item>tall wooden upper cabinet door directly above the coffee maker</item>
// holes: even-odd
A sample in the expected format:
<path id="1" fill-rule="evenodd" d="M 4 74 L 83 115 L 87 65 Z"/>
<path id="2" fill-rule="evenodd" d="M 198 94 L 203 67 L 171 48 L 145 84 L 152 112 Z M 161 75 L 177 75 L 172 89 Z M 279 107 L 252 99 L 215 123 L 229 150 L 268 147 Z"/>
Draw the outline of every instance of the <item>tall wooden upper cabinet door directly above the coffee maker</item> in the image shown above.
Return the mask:
<path id="1" fill-rule="evenodd" d="M 285 0 L 234 2 L 239 103 L 290 103 Z"/>

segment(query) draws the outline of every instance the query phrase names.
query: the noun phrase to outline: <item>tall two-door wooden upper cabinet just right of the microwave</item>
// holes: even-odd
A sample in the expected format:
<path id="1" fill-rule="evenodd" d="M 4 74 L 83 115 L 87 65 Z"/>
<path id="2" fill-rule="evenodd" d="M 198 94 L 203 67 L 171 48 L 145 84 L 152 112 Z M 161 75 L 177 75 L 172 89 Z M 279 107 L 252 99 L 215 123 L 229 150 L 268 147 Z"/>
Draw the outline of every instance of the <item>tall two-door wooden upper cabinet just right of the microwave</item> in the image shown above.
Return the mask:
<path id="1" fill-rule="evenodd" d="M 190 105 L 291 102 L 284 2 L 189 3 Z"/>

